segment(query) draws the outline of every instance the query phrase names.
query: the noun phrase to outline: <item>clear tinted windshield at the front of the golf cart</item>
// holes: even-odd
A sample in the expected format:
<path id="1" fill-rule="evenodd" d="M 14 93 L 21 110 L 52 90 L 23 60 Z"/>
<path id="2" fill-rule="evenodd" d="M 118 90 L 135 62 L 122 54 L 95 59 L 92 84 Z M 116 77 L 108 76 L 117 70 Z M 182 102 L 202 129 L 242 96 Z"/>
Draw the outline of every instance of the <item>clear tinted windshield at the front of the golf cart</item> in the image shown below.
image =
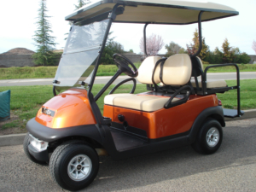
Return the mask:
<path id="1" fill-rule="evenodd" d="M 85 26 L 72 26 L 55 74 L 56 90 L 60 91 L 70 87 L 84 88 L 90 83 L 90 77 L 107 30 L 108 20 Z M 81 85 L 82 82 L 84 85 Z"/>

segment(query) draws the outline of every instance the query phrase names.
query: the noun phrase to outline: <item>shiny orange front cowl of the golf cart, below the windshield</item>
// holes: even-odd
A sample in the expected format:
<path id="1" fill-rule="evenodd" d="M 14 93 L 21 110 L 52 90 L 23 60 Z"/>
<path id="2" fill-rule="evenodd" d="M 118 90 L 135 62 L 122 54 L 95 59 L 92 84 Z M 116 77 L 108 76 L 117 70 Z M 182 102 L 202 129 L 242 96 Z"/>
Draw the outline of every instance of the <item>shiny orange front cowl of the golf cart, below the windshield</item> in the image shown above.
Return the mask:
<path id="1" fill-rule="evenodd" d="M 54 117 L 42 113 L 39 109 L 36 121 L 50 128 L 64 128 L 77 125 L 96 124 L 90 108 L 87 90 L 70 89 L 53 97 L 43 105 L 55 111 Z"/>

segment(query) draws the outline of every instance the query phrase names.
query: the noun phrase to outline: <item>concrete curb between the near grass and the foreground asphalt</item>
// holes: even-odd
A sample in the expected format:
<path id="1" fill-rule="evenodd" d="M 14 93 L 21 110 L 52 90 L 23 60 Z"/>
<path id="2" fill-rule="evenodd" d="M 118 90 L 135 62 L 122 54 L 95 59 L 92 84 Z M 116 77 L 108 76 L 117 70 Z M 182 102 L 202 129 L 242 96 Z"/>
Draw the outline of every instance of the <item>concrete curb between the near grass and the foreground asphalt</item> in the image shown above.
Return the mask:
<path id="1" fill-rule="evenodd" d="M 250 118 L 256 118 L 256 109 L 244 110 L 244 115 L 242 115 L 240 118 L 236 118 L 236 119 L 225 118 L 225 121 L 250 119 Z M 0 147 L 21 145 L 23 144 L 23 140 L 25 136 L 26 136 L 26 133 L 0 136 Z"/>

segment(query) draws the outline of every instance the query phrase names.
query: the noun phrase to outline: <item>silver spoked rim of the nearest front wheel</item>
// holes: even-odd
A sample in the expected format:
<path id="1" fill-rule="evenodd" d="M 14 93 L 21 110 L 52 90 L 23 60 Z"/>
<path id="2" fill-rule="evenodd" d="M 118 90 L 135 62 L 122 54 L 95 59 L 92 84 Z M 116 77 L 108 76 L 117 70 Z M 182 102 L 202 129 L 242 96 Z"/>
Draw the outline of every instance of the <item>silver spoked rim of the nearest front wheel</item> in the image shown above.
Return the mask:
<path id="1" fill-rule="evenodd" d="M 73 181 L 82 181 L 90 175 L 91 167 L 90 158 L 85 154 L 79 154 L 69 161 L 67 173 Z"/>

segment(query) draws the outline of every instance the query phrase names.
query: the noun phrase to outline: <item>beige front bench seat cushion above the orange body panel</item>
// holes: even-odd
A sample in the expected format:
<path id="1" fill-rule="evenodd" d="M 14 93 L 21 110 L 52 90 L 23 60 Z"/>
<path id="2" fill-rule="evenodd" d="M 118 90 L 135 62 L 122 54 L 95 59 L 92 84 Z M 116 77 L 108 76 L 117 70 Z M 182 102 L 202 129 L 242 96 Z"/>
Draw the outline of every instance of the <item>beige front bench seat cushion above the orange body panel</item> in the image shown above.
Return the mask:
<path id="1" fill-rule="evenodd" d="M 170 97 L 160 96 L 137 96 L 133 94 L 112 94 L 105 96 L 106 105 L 117 106 L 121 108 L 131 108 L 140 111 L 153 112 L 164 108 Z M 174 98 L 172 102 L 179 99 Z"/>

